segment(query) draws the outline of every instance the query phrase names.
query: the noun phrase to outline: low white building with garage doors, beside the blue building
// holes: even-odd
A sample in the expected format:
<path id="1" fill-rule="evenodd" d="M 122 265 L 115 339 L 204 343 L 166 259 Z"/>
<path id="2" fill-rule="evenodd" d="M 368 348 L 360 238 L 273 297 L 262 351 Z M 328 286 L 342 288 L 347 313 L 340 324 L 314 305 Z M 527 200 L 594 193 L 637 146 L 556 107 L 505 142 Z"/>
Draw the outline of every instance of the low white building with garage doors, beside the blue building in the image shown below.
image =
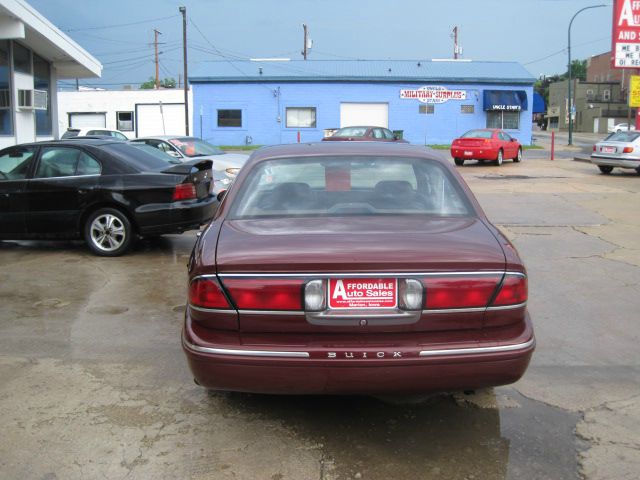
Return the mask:
<path id="1" fill-rule="evenodd" d="M 135 138 L 184 135 L 186 130 L 184 90 L 177 88 L 58 92 L 58 105 L 60 134 L 67 128 L 98 127 Z M 190 131 L 199 135 L 198 125 L 192 125 Z"/>

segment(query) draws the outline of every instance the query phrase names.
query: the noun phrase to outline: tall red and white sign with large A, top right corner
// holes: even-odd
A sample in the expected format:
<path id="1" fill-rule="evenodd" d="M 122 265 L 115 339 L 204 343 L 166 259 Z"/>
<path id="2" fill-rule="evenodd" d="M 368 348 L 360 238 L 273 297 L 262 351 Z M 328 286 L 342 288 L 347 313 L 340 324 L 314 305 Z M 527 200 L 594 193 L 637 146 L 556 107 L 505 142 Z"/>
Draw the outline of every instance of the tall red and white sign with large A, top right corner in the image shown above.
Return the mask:
<path id="1" fill-rule="evenodd" d="M 614 0 L 613 68 L 640 68 L 640 1 Z"/>

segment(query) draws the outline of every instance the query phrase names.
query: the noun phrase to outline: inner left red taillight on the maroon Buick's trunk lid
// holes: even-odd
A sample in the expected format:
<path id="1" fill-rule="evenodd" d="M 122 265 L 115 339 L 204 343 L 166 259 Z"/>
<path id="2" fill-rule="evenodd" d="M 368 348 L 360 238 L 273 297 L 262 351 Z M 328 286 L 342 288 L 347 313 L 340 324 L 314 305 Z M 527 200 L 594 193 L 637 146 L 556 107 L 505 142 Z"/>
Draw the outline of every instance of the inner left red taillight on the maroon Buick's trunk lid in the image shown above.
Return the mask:
<path id="1" fill-rule="evenodd" d="M 301 279 L 225 279 L 236 307 L 243 310 L 302 310 Z"/>

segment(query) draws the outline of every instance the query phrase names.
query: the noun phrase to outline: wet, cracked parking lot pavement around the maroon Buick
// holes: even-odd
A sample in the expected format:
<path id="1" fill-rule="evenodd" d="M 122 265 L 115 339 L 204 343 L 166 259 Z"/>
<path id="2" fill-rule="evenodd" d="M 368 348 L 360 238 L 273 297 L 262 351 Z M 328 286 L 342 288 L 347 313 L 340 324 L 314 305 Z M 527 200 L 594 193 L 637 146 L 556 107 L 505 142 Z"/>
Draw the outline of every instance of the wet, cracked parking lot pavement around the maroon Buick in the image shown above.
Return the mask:
<path id="1" fill-rule="evenodd" d="M 538 347 L 517 384 L 207 393 L 180 347 L 194 233 L 113 259 L 0 242 L 0 478 L 638 478 L 640 176 L 546 150 L 459 171 L 529 270 Z"/>

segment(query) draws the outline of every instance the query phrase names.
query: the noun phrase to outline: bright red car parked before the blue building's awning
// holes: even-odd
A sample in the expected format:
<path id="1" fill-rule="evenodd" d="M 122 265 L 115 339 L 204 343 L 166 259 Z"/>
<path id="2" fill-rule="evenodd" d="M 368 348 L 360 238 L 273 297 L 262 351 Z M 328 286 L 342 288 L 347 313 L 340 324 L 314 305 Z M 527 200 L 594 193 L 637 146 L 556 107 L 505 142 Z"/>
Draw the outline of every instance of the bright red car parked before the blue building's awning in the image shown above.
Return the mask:
<path id="1" fill-rule="evenodd" d="M 496 165 L 502 165 L 505 158 L 520 162 L 522 145 L 504 130 L 469 130 L 451 143 L 451 156 L 459 167 L 466 160 L 493 160 Z"/>

